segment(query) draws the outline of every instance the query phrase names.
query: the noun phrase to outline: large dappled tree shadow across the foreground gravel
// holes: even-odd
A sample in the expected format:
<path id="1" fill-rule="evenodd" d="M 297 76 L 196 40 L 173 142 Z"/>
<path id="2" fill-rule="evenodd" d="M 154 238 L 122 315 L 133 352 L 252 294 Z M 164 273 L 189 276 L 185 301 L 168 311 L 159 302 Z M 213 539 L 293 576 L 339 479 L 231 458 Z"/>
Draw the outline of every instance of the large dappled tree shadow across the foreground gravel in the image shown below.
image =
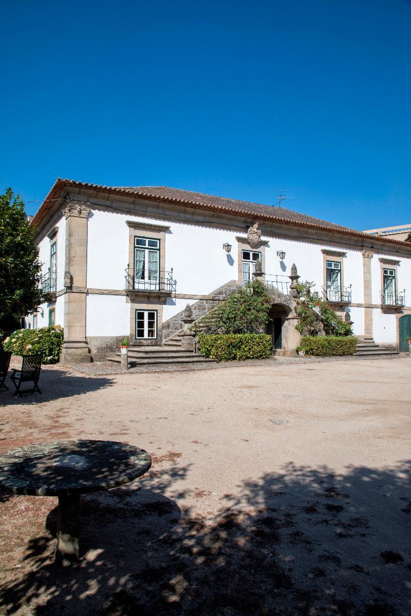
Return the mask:
<path id="1" fill-rule="evenodd" d="M 149 472 L 84 498 L 78 566 L 55 567 L 49 533 L 30 541 L 0 613 L 409 616 L 410 469 L 288 464 L 207 517 L 177 506 L 187 467 Z"/>

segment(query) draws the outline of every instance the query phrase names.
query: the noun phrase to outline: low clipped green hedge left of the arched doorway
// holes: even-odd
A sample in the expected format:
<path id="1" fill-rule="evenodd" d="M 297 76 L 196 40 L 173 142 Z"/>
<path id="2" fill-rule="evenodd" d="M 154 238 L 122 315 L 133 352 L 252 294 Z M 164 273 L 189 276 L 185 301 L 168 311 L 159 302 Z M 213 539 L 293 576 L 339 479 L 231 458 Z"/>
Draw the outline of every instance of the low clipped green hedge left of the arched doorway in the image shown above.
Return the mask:
<path id="1" fill-rule="evenodd" d="M 272 353 L 272 337 L 267 334 L 200 334 L 198 346 L 204 357 L 218 362 L 266 359 Z"/>

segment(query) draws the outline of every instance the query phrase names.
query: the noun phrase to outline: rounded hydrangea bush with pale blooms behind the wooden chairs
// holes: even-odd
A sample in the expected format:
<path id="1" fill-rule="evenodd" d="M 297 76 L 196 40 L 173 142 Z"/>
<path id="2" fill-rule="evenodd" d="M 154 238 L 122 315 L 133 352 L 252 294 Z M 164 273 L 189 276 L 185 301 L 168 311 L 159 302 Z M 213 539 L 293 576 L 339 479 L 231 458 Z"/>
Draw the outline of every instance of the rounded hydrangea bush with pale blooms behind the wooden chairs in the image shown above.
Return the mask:
<path id="1" fill-rule="evenodd" d="M 63 328 L 51 325 L 39 330 L 16 330 L 2 345 L 13 355 L 41 355 L 43 363 L 56 363 L 62 352 Z"/>

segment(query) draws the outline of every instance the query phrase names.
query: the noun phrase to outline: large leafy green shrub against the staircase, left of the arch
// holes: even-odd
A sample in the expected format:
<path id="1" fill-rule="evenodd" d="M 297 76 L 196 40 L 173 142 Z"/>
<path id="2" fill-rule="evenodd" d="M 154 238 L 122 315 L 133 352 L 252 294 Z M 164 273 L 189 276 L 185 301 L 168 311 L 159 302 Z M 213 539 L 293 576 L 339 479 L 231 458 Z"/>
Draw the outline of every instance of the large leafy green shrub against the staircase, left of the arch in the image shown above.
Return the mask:
<path id="1" fill-rule="evenodd" d="M 208 334 L 253 334 L 264 330 L 272 298 L 259 280 L 252 280 L 198 320 Z"/>

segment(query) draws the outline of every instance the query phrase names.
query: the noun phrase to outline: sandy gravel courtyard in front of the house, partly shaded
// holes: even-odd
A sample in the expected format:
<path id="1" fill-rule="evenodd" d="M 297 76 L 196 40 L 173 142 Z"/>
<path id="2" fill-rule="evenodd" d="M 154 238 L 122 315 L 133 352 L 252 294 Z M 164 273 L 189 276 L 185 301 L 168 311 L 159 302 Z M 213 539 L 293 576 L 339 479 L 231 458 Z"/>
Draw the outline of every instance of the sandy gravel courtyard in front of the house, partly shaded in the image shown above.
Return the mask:
<path id="1" fill-rule="evenodd" d="M 1 451 L 85 438 L 152 455 L 83 497 L 74 567 L 53 562 L 57 499 L 2 494 L 0 616 L 409 616 L 410 373 L 409 357 L 56 365 L 41 396 L 0 391 Z"/>

